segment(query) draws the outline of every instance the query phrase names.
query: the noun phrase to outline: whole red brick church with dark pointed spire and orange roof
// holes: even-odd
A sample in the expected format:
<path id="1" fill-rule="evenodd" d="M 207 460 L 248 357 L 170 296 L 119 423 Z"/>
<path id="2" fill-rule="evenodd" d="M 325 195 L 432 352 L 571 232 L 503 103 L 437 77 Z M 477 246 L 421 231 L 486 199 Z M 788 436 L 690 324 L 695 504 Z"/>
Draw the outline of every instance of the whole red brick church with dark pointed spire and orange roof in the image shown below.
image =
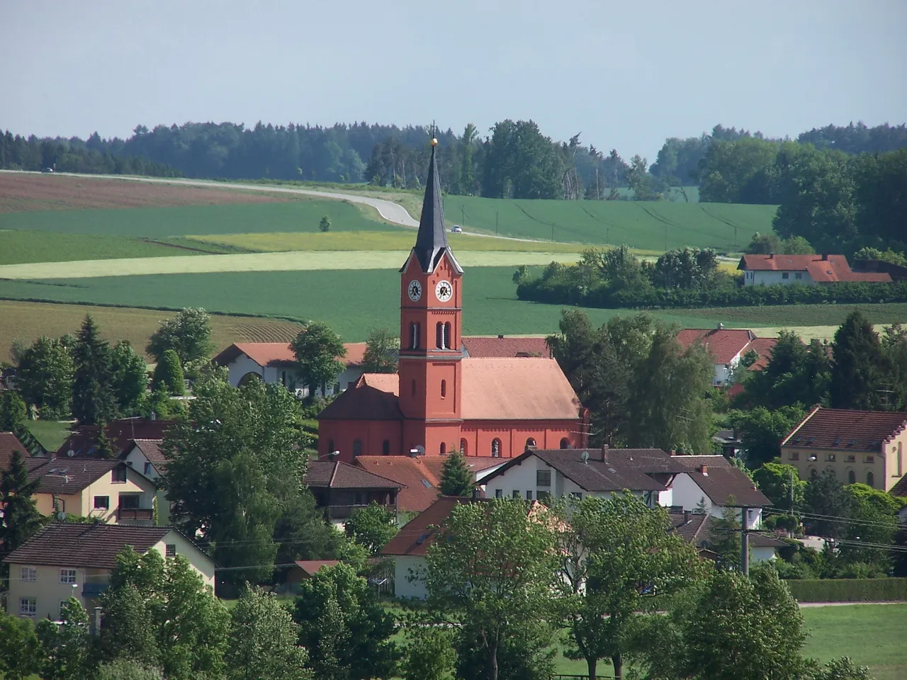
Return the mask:
<path id="1" fill-rule="evenodd" d="M 461 335 L 463 267 L 444 229 L 435 149 L 415 246 L 400 269 L 396 374 L 363 374 L 318 415 L 318 455 L 512 458 L 587 445 L 588 413 L 554 359 L 472 356 Z"/>

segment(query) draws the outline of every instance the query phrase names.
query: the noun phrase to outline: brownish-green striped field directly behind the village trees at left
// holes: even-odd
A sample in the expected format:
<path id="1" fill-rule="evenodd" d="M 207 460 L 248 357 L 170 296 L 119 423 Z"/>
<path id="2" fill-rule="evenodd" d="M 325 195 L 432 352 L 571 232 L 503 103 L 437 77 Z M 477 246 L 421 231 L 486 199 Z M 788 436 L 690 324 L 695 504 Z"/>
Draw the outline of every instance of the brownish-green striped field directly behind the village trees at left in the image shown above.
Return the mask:
<path id="1" fill-rule="evenodd" d="M 41 335 L 59 337 L 73 335 L 86 314 L 101 326 L 105 340 L 129 340 L 136 351 L 143 353 L 148 338 L 161 321 L 173 312 L 154 309 L 130 309 L 86 305 L 54 305 L 40 302 L 0 300 L 0 360 L 6 361 L 15 340 L 31 344 Z M 280 319 L 250 316 L 211 316 L 211 341 L 215 352 L 234 342 L 289 342 L 298 333 L 297 324 Z M 151 357 L 146 355 L 146 360 Z M 44 443 L 42 436 L 34 432 Z"/>

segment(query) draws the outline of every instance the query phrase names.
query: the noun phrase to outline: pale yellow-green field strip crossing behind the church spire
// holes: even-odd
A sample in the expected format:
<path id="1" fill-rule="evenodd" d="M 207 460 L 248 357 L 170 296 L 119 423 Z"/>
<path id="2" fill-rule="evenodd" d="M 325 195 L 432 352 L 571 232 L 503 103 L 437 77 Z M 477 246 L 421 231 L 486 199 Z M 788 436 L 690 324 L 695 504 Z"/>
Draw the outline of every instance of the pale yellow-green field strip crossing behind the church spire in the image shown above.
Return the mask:
<path id="1" fill-rule="evenodd" d="M 400 267 L 407 255 L 407 250 L 322 250 L 317 252 L 86 259 L 75 262 L 33 262 L 22 265 L 4 265 L 0 267 L 0 278 L 93 278 L 131 277 L 141 274 L 387 269 Z M 563 263 L 576 262 L 579 257 L 576 253 L 521 253 L 495 250 L 457 253 L 457 259 L 464 267 L 547 265 L 552 260 Z"/>

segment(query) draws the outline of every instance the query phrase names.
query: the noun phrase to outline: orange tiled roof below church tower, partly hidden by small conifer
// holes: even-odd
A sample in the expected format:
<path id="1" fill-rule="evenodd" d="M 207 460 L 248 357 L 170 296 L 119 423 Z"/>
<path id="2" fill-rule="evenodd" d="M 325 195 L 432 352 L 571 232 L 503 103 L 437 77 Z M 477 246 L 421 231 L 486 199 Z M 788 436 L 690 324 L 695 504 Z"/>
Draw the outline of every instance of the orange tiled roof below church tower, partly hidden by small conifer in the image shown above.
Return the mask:
<path id="1" fill-rule="evenodd" d="M 466 465 L 473 472 L 501 465 L 501 458 L 466 456 Z M 394 480 L 404 488 L 397 494 L 397 507 L 410 512 L 422 512 L 438 498 L 445 456 L 356 456 L 355 465 Z"/>

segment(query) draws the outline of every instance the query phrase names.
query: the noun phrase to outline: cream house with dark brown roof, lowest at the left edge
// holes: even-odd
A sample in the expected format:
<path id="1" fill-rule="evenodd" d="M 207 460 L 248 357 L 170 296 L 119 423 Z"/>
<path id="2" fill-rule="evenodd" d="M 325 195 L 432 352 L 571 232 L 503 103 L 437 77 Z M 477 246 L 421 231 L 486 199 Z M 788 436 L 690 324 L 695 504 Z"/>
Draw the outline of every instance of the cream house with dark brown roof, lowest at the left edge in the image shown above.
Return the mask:
<path id="1" fill-rule="evenodd" d="M 181 555 L 214 588 L 214 562 L 176 529 L 54 522 L 4 559 L 10 566 L 7 614 L 57 620 L 70 597 L 93 614 L 126 546 L 141 554 L 157 550 L 168 559 Z"/>

